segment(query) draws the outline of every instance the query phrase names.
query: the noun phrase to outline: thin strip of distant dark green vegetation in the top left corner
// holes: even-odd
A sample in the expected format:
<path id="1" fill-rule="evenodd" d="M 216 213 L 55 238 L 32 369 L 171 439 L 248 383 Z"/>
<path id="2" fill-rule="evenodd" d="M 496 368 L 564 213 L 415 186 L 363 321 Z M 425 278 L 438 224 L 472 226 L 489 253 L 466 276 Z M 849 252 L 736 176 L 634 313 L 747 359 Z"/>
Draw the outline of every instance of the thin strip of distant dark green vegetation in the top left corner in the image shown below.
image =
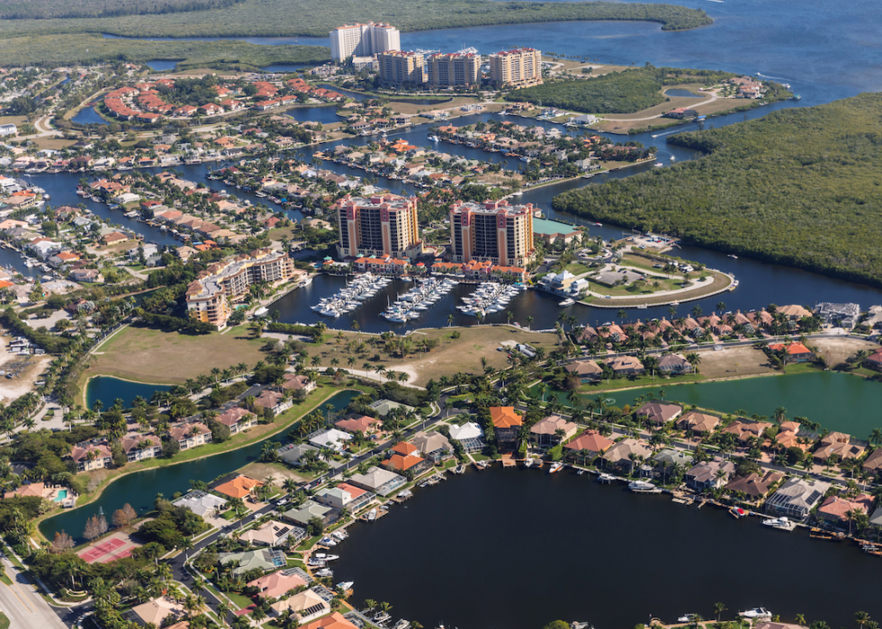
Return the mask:
<path id="1" fill-rule="evenodd" d="M 29 0 L 27 3 L 0 4 L 0 18 L 4 20 L 34 20 L 70 17 L 117 17 L 120 15 L 149 15 L 208 11 L 236 4 L 236 0 Z"/>

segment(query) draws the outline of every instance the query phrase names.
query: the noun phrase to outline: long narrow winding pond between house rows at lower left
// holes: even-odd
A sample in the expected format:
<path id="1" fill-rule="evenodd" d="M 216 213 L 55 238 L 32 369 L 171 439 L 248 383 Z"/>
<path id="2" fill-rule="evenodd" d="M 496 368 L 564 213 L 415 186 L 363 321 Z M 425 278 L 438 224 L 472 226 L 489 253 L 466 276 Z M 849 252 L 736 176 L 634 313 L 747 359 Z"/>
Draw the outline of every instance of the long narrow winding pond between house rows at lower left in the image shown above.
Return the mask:
<path id="1" fill-rule="evenodd" d="M 349 402 L 360 391 L 340 391 L 320 405 L 321 412 L 325 412 L 325 405 L 331 404 L 333 411 L 345 409 Z M 313 394 L 315 396 L 315 394 Z M 311 402 L 307 401 L 306 404 Z M 153 500 L 157 491 L 162 492 L 166 498 L 171 498 L 176 491 L 186 491 L 190 487 L 190 481 L 211 482 L 247 463 L 253 463 L 260 457 L 261 447 L 267 440 L 285 443 L 287 441 L 284 432 L 277 436 L 267 437 L 255 444 L 247 445 L 223 454 L 216 454 L 202 459 L 167 465 L 144 472 L 127 474 L 117 481 L 113 481 L 101 497 L 83 508 L 65 511 L 58 516 L 50 517 L 40 523 L 40 533 L 47 539 L 53 539 L 57 531 L 65 530 L 71 535 L 77 544 L 83 542 L 82 534 L 85 521 L 99 512 L 110 515 L 125 503 L 129 503 L 139 515 L 147 513 L 153 508 Z"/>

